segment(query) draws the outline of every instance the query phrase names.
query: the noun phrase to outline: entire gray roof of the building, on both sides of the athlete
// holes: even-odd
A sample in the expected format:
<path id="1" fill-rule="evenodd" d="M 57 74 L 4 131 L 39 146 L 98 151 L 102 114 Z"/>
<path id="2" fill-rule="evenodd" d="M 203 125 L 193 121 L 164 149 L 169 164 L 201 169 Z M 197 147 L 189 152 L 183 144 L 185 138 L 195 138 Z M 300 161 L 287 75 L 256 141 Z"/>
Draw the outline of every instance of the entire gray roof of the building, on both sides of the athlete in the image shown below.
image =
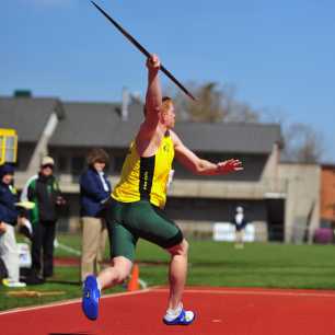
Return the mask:
<path id="1" fill-rule="evenodd" d="M 16 129 L 20 141 L 36 142 L 53 112 L 59 124 L 49 141 L 51 147 L 124 149 L 143 118 L 142 104 L 137 100 L 131 100 L 128 119 L 123 120 L 119 103 L 0 97 L 0 127 Z M 175 131 L 189 149 L 204 152 L 265 154 L 281 141 L 279 125 L 181 122 Z"/>

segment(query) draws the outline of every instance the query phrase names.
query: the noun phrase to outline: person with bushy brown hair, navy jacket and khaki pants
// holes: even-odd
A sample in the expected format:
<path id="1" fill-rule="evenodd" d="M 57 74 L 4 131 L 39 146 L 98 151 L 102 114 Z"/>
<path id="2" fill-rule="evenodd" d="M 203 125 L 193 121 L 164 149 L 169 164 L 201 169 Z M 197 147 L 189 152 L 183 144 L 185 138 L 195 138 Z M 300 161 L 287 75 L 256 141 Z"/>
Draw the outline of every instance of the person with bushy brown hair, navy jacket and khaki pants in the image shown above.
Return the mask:
<path id="1" fill-rule="evenodd" d="M 81 280 L 97 274 L 104 257 L 107 229 L 102 218 L 104 203 L 109 198 L 111 184 L 104 175 L 108 154 L 93 149 L 88 155 L 88 169 L 80 176 L 80 215 L 82 221 Z"/>

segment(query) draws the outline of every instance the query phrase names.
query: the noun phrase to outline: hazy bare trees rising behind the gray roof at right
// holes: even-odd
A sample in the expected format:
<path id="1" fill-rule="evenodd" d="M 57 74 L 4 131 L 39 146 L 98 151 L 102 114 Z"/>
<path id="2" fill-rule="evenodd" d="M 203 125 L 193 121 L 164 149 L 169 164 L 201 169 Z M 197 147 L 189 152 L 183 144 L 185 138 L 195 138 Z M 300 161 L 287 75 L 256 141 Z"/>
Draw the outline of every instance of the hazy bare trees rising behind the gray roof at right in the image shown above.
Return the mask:
<path id="1" fill-rule="evenodd" d="M 322 136 L 311 126 L 297 123 L 287 126 L 287 117 L 280 109 L 255 111 L 235 97 L 235 88 L 219 88 L 216 82 L 203 85 L 188 83 L 197 101 L 189 100 L 180 90 L 170 89 L 178 111 L 177 118 L 207 123 L 261 123 L 279 124 L 284 132 L 282 158 L 291 162 L 316 163 L 323 155 Z"/>

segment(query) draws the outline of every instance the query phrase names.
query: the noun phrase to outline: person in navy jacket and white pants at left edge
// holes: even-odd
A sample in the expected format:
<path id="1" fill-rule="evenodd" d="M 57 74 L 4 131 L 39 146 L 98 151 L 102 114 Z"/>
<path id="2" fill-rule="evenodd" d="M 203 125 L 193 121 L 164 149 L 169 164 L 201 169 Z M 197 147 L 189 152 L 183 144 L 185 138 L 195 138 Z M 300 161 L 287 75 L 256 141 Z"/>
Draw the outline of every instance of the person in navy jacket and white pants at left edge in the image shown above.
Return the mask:
<path id="1" fill-rule="evenodd" d="M 13 187 L 14 168 L 0 166 L 0 256 L 5 265 L 8 278 L 2 284 L 8 287 L 25 287 L 20 281 L 20 258 L 14 227 L 24 220 L 15 207 L 16 190 Z"/>

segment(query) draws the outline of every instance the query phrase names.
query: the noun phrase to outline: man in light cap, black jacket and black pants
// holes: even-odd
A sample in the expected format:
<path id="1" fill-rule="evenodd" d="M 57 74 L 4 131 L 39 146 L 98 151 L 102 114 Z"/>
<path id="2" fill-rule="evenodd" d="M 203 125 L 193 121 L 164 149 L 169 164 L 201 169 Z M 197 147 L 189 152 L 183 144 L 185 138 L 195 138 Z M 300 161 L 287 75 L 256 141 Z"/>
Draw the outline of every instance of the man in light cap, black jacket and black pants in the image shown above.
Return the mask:
<path id="1" fill-rule="evenodd" d="M 58 182 L 54 176 L 54 166 L 53 158 L 43 158 L 38 175 L 28 180 L 21 197 L 21 200 L 35 203 L 35 207 L 31 211 L 33 223 L 32 281 L 51 277 L 54 274 L 57 211 L 58 207 L 65 204 Z"/>

